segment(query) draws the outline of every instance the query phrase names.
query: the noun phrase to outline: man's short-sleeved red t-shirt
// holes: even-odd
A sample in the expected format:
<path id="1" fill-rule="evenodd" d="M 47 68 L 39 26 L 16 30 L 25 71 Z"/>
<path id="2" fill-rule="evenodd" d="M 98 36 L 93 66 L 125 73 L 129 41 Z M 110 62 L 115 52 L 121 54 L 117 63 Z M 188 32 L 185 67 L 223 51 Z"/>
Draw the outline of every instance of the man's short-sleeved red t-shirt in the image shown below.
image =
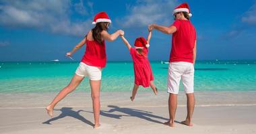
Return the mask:
<path id="1" fill-rule="evenodd" d="M 189 20 L 176 20 L 172 25 L 177 28 L 177 31 L 172 34 L 169 62 L 193 63 L 193 48 L 197 38 L 195 27 Z"/>

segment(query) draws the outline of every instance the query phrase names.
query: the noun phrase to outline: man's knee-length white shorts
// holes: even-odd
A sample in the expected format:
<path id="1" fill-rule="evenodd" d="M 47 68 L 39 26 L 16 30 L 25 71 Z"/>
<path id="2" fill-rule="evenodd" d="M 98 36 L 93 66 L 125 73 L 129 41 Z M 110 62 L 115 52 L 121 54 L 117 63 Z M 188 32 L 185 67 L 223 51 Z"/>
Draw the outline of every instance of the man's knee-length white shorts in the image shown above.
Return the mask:
<path id="1" fill-rule="evenodd" d="M 168 68 L 167 92 L 179 93 L 179 84 L 182 80 L 186 94 L 194 92 L 194 66 L 190 62 L 170 62 Z"/>

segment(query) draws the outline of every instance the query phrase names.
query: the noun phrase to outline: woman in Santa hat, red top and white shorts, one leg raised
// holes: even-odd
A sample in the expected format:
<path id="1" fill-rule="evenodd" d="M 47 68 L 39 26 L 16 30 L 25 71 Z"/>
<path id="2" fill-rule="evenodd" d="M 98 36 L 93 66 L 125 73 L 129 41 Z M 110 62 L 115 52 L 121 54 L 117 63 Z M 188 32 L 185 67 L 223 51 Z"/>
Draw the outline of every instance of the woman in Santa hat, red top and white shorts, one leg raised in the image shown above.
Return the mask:
<path id="1" fill-rule="evenodd" d="M 47 113 L 53 117 L 53 109 L 60 100 L 67 94 L 75 90 L 82 82 L 85 76 L 90 79 L 92 105 L 94 110 L 94 128 L 100 127 L 100 81 L 101 71 L 106 66 L 106 48 L 104 40 L 110 42 L 116 40 L 124 31 L 117 30 L 114 34 L 108 34 L 108 25 L 111 23 L 108 15 L 105 12 L 100 12 L 95 15 L 94 22 L 96 26 L 88 32 L 86 37 L 73 48 L 71 52 L 67 52 L 66 56 L 72 54 L 82 48 L 86 44 L 86 52 L 75 71 L 75 75 L 71 82 L 57 94 L 53 101 L 46 107 Z"/>

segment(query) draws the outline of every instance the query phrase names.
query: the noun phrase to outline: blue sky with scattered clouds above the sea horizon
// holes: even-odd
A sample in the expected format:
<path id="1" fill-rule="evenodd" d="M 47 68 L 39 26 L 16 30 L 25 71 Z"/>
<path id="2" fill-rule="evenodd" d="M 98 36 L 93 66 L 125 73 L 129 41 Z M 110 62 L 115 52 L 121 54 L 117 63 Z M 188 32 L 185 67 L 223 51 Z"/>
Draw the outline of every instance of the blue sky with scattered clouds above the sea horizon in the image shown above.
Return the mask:
<path id="1" fill-rule="evenodd" d="M 170 25 L 172 9 L 187 2 L 197 29 L 198 60 L 256 59 L 255 0 L 0 0 L 0 61 L 67 60 L 70 51 L 93 27 L 92 19 L 106 11 L 110 33 L 123 29 L 131 44 L 146 37 L 147 25 Z M 153 31 L 150 60 L 168 60 L 171 35 Z M 73 55 L 80 60 L 85 48 Z M 108 61 L 131 60 L 121 39 L 106 42 Z"/>

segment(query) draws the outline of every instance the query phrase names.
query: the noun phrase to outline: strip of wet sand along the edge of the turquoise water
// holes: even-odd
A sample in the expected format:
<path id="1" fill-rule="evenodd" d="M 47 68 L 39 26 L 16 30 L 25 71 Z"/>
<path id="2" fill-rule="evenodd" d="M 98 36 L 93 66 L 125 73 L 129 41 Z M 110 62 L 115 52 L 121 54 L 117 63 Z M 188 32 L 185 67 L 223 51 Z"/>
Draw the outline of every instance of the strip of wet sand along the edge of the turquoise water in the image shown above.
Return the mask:
<path id="1" fill-rule="evenodd" d="M 48 105 L 58 92 L 45 93 L 0 93 L 0 109 L 13 107 L 43 107 Z M 102 107 L 110 104 L 126 106 L 166 107 L 168 93 L 160 91 L 157 96 L 150 90 L 139 90 L 135 101 L 131 103 L 131 92 L 100 92 Z M 242 106 L 256 105 L 256 91 L 197 91 L 195 92 L 196 107 L 207 106 Z M 151 103 L 148 100 L 152 101 Z M 90 103 L 88 103 L 90 102 Z M 71 92 L 57 107 L 92 107 L 90 92 Z M 186 96 L 183 91 L 178 94 L 178 105 L 186 105 Z"/>

